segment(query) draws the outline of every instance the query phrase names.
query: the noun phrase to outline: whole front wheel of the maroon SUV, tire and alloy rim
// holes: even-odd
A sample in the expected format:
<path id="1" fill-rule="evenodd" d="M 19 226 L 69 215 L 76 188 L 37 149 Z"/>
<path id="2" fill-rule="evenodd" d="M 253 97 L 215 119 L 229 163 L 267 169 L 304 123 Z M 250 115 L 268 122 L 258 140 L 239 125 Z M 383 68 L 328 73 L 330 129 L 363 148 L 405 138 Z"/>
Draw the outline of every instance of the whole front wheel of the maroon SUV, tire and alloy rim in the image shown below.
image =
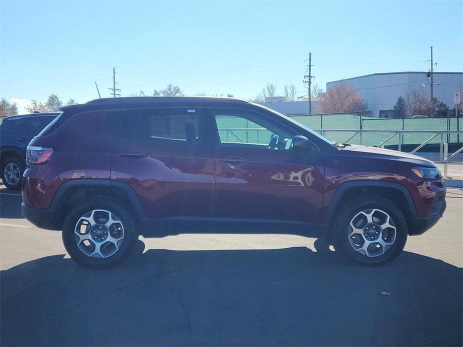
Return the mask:
<path id="1" fill-rule="evenodd" d="M 392 201 L 360 196 L 345 203 L 335 223 L 335 248 L 347 258 L 367 265 L 395 259 L 407 240 L 407 223 Z"/>

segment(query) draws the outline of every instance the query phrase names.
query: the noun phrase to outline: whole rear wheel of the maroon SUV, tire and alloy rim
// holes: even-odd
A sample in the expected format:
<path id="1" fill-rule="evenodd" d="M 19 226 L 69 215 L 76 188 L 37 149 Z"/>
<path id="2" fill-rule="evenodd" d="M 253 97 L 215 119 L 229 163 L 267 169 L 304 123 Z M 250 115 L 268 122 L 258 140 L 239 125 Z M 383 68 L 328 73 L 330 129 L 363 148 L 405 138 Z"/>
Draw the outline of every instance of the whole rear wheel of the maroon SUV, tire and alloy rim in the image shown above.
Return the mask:
<path id="1" fill-rule="evenodd" d="M 137 239 L 133 217 L 112 201 L 84 202 L 63 225 L 66 250 L 77 263 L 91 268 L 118 264 L 132 252 Z"/>

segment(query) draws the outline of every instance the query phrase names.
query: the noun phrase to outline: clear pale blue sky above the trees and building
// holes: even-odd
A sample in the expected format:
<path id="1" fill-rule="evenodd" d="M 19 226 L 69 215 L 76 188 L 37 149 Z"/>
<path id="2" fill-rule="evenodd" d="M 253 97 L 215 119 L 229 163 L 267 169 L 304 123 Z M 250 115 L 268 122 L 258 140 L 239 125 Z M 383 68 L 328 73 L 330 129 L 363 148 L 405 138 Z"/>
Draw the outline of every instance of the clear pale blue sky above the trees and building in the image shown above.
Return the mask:
<path id="1" fill-rule="evenodd" d="M 0 1 L 0 96 L 80 102 L 167 83 L 251 98 L 266 82 L 463 70 L 463 1 Z M 24 101 L 26 100 L 26 101 Z"/>

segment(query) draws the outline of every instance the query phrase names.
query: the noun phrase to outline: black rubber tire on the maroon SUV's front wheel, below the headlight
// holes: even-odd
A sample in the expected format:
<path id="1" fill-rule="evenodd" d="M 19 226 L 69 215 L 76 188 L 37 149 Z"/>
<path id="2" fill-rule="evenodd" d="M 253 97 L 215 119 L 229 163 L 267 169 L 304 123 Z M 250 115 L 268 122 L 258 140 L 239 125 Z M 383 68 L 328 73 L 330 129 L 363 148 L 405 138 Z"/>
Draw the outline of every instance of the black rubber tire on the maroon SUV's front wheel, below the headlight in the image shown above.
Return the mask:
<path id="1" fill-rule="evenodd" d="M 359 240 L 358 243 L 361 244 L 361 240 L 365 242 L 365 237 L 358 233 L 357 235 L 351 236 L 349 239 L 349 234 L 352 231 L 350 226 L 351 220 L 357 216 L 357 214 L 361 211 L 370 211 L 371 209 L 380 210 L 377 214 L 373 213 L 372 215 L 376 218 L 376 216 L 380 216 L 381 218 L 384 217 L 384 214 L 381 211 L 387 213 L 393 221 L 395 226 L 395 241 L 392 245 L 385 246 L 385 252 L 381 255 L 371 256 L 371 254 L 375 254 L 377 248 L 377 243 L 373 243 L 371 246 L 368 246 L 368 252 L 370 249 L 373 249 L 373 252 L 370 256 L 365 255 L 364 251 L 357 251 L 354 249 L 354 246 L 351 245 L 351 242 L 355 245 Z M 384 265 L 393 259 L 395 259 L 400 252 L 402 251 L 403 247 L 405 246 L 405 242 L 407 240 L 408 228 L 405 216 L 403 215 L 402 211 L 398 208 L 398 206 L 393 203 L 392 201 L 385 199 L 380 196 L 358 196 L 349 201 L 346 201 L 342 204 L 341 208 L 338 212 L 337 220 L 333 223 L 333 236 L 334 236 L 334 246 L 337 251 L 340 251 L 346 258 L 349 260 L 369 266 L 379 266 Z M 366 216 L 363 219 L 363 215 L 358 216 L 359 224 L 365 224 L 367 222 Z M 373 224 L 374 226 L 374 224 Z M 366 224 L 365 224 L 366 227 Z M 369 230 L 371 230 L 371 226 L 368 226 Z M 365 230 L 364 228 L 360 228 Z M 393 234 L 393 228 L 384 228 L 385 232 L 388 235 Z M 377 230 L 377 229 L 375 229 Z M 371 235 L 371 237 L 375 237 Z M 381 236 L 378 237 L 386 237 L 386 233 L 381 231 Z M 391 237 L 391 236 L 388 236 Z M 386 238 L 387 239 L 387 238 Z M 391 241 L 389 239 L 388 241 Z M 374 240 L 372 242 L 375 242 Z M 364 244 L 364 243 L 363 243 Z M 378 246 L 379 247 L 379 246 Z M 382 245 L 378 248 L 377 254 L 381 253 Z M 359 248 L 357 248 L 359 249 Z"/>

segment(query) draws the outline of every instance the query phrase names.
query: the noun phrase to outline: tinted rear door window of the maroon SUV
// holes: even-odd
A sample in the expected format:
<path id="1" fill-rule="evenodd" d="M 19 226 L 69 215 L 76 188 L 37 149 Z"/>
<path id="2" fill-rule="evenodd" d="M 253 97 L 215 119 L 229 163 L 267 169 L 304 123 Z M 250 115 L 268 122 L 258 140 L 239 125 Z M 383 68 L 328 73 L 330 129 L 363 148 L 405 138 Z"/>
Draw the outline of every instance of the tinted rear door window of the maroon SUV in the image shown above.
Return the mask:
<path id="1" fill-rule="evenodd" d="M 198 140 L 195 110 L 137 110 L 133 114 L 134 136 L 139 139 L 180 144 Z"/>

